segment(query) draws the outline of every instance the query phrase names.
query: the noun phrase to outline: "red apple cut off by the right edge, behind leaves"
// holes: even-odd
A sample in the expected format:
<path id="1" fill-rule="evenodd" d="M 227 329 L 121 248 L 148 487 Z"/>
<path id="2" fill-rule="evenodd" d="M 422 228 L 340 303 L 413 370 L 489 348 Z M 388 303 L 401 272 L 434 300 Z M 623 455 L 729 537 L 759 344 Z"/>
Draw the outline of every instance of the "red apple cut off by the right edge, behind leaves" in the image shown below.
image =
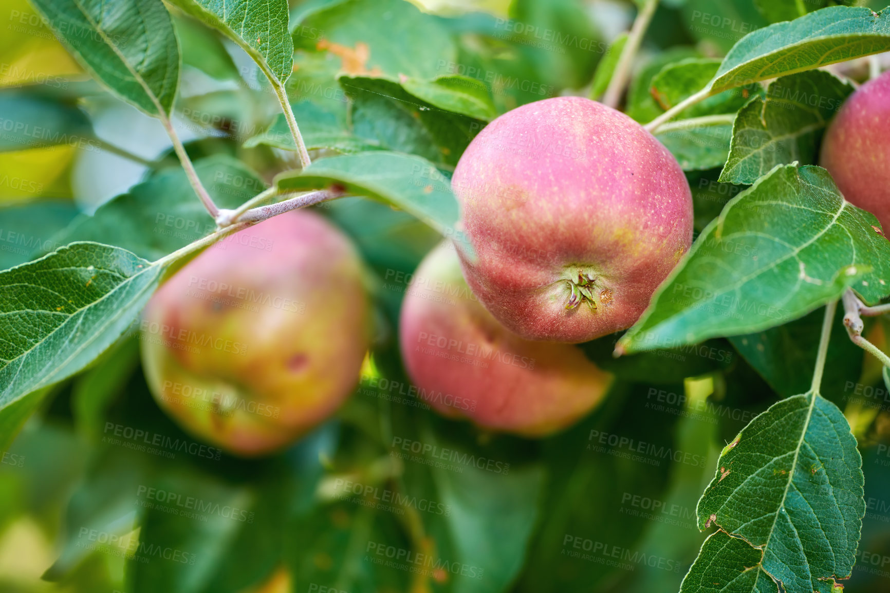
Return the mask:
<path id="1" fill-rule="evenodd" d="M 890 228 L 890 72 L 850 95 L 822 140 L 820 163 L 845 199 Z"/>

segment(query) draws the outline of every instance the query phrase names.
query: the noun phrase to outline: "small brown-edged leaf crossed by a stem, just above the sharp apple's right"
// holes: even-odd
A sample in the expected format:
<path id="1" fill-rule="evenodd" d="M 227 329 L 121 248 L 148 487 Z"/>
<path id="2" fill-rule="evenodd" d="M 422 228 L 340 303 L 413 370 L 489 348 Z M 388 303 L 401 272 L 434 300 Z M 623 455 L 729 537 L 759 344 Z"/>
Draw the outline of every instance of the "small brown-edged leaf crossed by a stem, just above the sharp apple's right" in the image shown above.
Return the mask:
<path id="1" fill-rule="evenodd" d="M 655 77 L 652 77 L 652 96 L 661 109 L 669 110 L 707 86 L 719 68 L 720 61 L 709 58 L 689 58 L 667 64 Z M 720 113 L 735 113 L 754 93 L 760 93 L 760 85 L 748 85 L 741 89 L 717 93 L 684 110 L 680 117 L 698 118 Z"/>

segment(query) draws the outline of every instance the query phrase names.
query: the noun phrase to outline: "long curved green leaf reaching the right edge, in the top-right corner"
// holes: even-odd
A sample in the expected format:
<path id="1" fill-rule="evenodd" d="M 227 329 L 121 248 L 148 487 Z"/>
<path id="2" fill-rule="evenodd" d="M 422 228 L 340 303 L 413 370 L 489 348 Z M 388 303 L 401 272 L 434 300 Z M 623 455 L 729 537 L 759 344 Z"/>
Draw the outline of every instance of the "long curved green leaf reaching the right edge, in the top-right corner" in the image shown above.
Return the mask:
<path id="1" fill-rule="evenodd" d="M 831 6 L 760 28 L 732 47 L 711 93 L 890 50 L 890 9 Z"/>

